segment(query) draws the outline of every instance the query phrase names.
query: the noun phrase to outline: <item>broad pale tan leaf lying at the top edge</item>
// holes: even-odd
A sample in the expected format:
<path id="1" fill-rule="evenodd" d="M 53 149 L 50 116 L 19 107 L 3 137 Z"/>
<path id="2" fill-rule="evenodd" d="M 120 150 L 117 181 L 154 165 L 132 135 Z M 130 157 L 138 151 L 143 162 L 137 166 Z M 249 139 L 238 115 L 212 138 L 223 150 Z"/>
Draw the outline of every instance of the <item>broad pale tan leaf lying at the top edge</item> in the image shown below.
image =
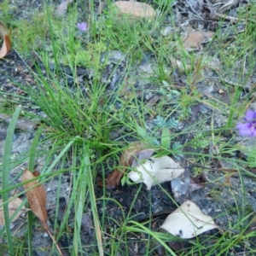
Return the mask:
<path id="1" fill-rule="evenodd" d="M 147 3 L 134 1 L 117 1 L 114 3 L 119 9 L 119 14 L 131 15 L 137 18 L 154 18 L 155 10 Z"/>

